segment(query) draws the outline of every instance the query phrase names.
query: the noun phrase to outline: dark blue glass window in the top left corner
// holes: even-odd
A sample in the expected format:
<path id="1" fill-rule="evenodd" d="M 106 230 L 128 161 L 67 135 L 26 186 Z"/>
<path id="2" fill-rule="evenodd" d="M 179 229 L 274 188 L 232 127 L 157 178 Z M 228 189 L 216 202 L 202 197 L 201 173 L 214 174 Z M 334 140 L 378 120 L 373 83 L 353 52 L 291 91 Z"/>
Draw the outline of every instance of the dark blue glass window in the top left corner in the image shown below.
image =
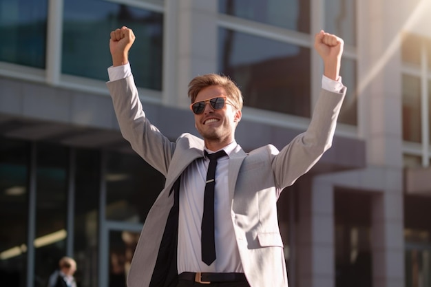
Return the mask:
<path id="1" fill-rule="evenodd" d="M 47 0 L 0 0 L 0 61 L 45 67 Z"/>

